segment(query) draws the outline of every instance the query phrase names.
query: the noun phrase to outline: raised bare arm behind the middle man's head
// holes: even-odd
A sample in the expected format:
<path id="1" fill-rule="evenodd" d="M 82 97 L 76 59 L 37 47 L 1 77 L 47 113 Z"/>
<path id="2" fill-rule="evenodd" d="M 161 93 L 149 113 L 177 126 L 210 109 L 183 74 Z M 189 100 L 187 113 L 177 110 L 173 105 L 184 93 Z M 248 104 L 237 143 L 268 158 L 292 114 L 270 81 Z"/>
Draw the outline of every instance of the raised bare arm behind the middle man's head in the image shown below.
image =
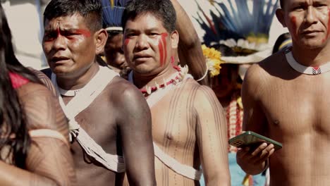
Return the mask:
<path id="1" fill-rule="evenodd" d="M 177 0 L 171 0 L 176 9 L 176 30 L 179 32 L 178 56 L 180 63 L 189 67 L 195 80 L 203 77 L 207 70 L 200 39 L 190 18 Z M 208 76 L 199 81 L 201 85 L 208 85 Z"/>

